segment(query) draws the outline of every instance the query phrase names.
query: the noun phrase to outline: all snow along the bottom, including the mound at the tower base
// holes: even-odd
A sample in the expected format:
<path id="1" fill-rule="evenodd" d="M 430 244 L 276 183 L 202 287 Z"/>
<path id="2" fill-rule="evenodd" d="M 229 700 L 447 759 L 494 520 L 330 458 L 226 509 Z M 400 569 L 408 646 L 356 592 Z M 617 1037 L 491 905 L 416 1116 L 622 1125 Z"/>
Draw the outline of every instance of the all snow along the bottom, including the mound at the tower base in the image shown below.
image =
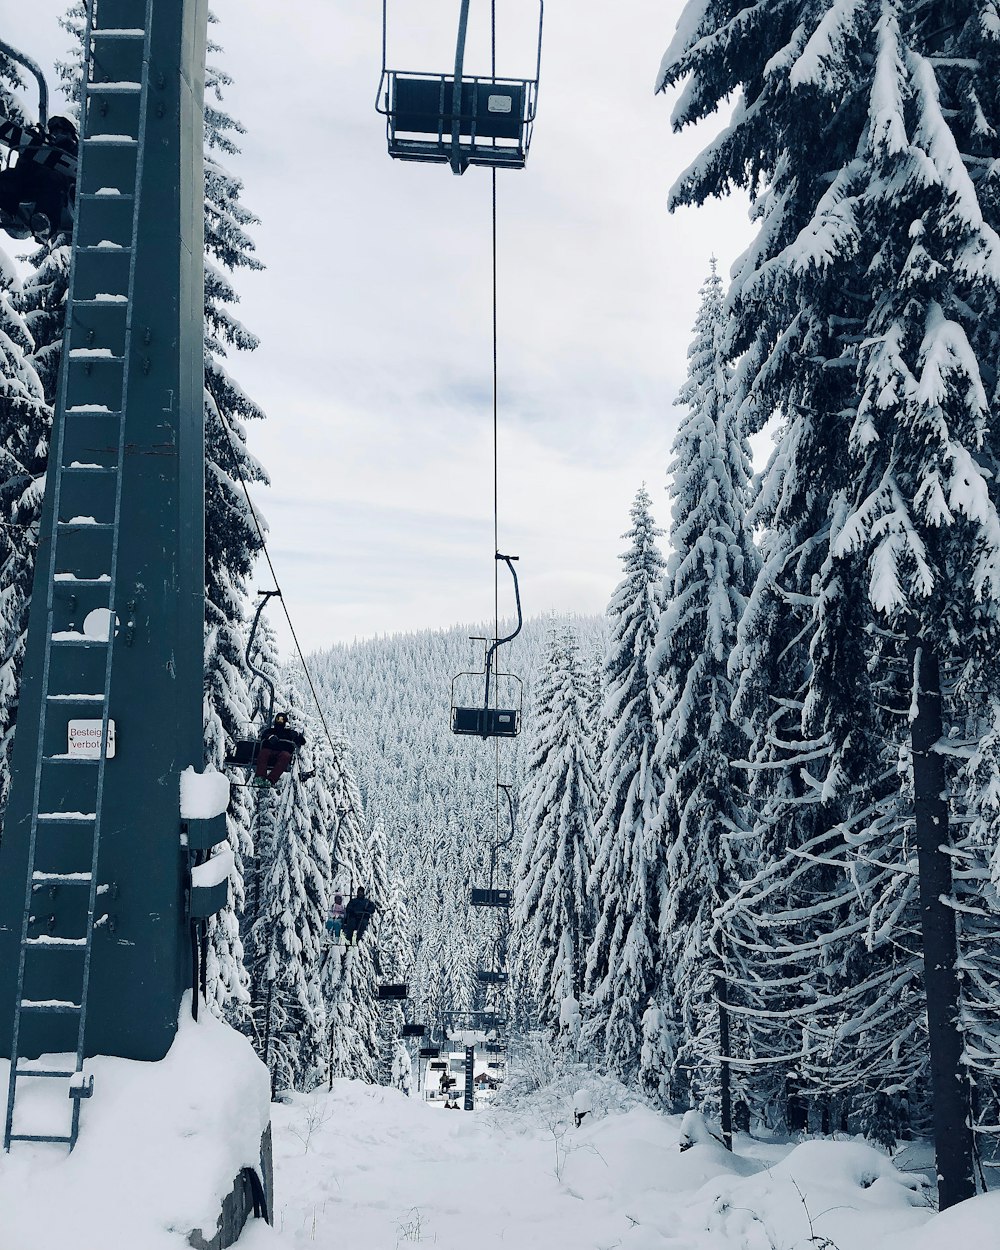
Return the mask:
<path id="1" fill-rule="evenodd" d="M 0 1250 L 184 1250 L 254 1161 L 266 1072 L 218 1021 L 182 1019 L 162 1064 L 92 1066 L 72 1155 L 0 1155 Z M 470 1115 L 356 1081 L 286 1095 L 275 1228 L 251 1221 L 240 1250 L 1000 1250 L 1000 1194 L 938 1216 L 922 1174 L 862 1142 L 740 1139 L 730 1155 L 696 1116 L 606 1096 L 576 1129 L 590 1098 L 549 1088 Z"/>

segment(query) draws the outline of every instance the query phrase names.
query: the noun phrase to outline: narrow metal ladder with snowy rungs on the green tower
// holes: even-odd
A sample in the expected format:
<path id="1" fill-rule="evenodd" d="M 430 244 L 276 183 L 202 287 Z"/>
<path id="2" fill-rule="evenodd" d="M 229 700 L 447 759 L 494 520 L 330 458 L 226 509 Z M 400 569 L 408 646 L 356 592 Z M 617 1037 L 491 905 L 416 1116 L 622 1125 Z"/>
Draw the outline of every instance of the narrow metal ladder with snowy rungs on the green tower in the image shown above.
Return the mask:
<path id="1" fill-rule="evenodd" d="M 106 10 L 108 5 L 101 8 Z M 98 860 L 118 629 L 114 609 L 151 28 L 152 0 L 145 2 L 142 29 L 102 29 L 96 0 L 88 0 L 74 244 L 49 456 L 52 511 L 45 580 L 44 702 L 35 758 L 5 1150 L 12 1141 L 61 1142 L 71 1150 L 80 1130 L 80 1100 L 94 1091 L 92 1075 L 84 1072 L 84 1044 L 94 931 L 101 922 L 95 921 L 95 914 L 99 895 L 108 889 L 99 888 Z M 109 125 L 119 129 L 109 130 Z M 91 444 L 94 454 L 81 455 L 81 448 L 90 450 Z M 36 576 L 36 596 L 41 586 Z M 85 609 L 86 618 L 81 616 L 79 624 L 64 620 L 68 612 L 79 615 Z M 75 754 L 68 716 L 74 711 L 95 712 L 98 708 L 99 744 L 90 752 Z M 92 736 L 96 725 L 95 716 Z M 55 749 L 60 741 L 65 746 Z M 65 769 L 82 771 L 65 785 L 60 784 L 60 770 Z M 70 810 L 74 800 L 69 795 L 76 796 L 75 806 L 86 810 Z M 35 931 L 35 912 L 45 891 L 51 898 L 70 891 L 62 898 L 71 901 L 76 901 L 75 891 L 85 894 L 82 932 Z M 26 1019 L 35 1030 L 30 1049 L 36 1050 L 39 1035 L 46 1041 L 50 1035 L 56 1039 L 60 1025 L 66 1035 L 68 1016 L 76 1018 L 72 1070 L 69 1064 L 44 1066 L 41 1060 L 21 1055 Z M 58 1044 L 42 1046 L 44 1052 L 65 1054 L 68 1049 Z M 22 1081 L 36 1080 L 66 1082 L 71 1101 L 68 1132 L 14 1131 L 19 1088 Z"/>

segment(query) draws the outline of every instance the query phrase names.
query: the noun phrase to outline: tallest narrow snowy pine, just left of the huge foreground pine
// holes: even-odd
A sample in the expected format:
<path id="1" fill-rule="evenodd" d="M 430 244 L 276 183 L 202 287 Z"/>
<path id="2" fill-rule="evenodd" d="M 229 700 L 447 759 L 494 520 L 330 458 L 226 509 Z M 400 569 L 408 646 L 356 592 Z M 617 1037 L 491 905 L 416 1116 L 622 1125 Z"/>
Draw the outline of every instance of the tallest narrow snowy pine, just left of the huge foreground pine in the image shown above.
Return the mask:
<path id="1" fill-rule="evenodd" d="M 721 1099 L 731 1131 L 729 959 L 714 914 L 736 879 L 732 839 L 745 832 L 746 740 L 730 716 L 729 662 L 758 570 L 746 519 L 749 451 L 730 402 L 722 282 L 712 262 L 676 402 L 688 409 L 674 440 L 666 605 L 651 666 L 662 730 L 660 829 L 665 872 L 662 968 L 682 1029 L 675 1071 L 695 1104 Z M 644 995 L 645 1001 L 645 995 Z"/>

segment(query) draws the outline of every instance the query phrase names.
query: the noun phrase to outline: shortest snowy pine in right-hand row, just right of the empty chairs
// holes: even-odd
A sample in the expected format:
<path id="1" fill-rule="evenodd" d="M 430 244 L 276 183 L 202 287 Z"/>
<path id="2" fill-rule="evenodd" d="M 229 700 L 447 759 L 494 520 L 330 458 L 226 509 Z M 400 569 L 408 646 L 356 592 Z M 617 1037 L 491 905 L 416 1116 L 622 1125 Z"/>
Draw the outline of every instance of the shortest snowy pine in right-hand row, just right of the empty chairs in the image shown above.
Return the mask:
<path id="1" fill-rule="evenodd" d="M 539 1024 L 575 1045 L 594 930 L 586 885 L 596 779 L 586 679 L 571 626 L 554 632 L 540 688 L 522 804 L 515 922 L 532 969 Z"/>

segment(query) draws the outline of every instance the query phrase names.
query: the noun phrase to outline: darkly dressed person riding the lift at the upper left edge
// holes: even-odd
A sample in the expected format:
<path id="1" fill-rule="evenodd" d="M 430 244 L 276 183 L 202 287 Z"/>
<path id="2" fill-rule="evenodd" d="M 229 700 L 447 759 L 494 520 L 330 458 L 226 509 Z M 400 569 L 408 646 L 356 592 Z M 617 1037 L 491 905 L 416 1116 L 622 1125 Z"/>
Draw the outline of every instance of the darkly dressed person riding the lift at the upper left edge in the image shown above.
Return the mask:
<path id="1" fill-rule="evenodd" d="M 24 146 L 16 142 L 22 135 L 29 136 Z M 0 170 L 0 226 L 15 239 L 32 235 L 38 242 L 71 230 L 74 182 L 60 158 L 76 160 L 76 126 L 69 118 L 50 118 L 45 130 L 0 120 L 0 141 L 18 149 L 15 164 Z"/>

